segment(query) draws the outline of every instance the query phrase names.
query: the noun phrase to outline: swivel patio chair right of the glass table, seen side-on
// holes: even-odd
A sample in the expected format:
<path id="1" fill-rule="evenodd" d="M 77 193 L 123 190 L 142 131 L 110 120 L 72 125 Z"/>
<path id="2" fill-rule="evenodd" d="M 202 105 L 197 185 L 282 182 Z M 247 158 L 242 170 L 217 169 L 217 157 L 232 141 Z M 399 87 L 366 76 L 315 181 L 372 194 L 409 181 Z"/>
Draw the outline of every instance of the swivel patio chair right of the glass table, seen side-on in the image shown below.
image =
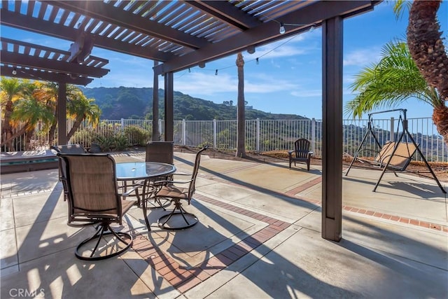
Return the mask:
<path id="1" fill-rule="evenodd" d="M 197 172 L 199 171 L 201 154 L 207 150 L 207 146 L 201 148 L 200 151 L 196 153 L 195 157 L 195 165 L 193 166 L 193 173 L 191 177 L 187 181 L 176 181 L 174 180 L 165 180 L 165 181 L 156 181 L 155 184 L 160 186 L 155 190 L 155 199 L 158 200 L 160 198 L 169 198 L 171 202 L 174 204 L 174 209 L 169 213 L 165 214 L 158 219 L 158 225 L 160 228 L 165 228 L 167 230 L 182 230 L 185 228 L 190 228 L 193 225 L 197 224 L 198 219 L 195 214 L 188 213 L 182 207 L 182 201 L 186 200 L 188 204 L 191 204 L 191 200 L 193 200 L 193 194 L 195 193 L 195 183 Z M 174 174 L 174 176 L 181 176 L 190 174 Z M 187 186 L 188 184 L 188 186 Z M 183 185 L 186 187 L 181 187 L 179 185 Z M 182 225 L 179 225 L 179 220 L 185 222 Z M 171 221 L 170 221 L 171 220 Z"/>

